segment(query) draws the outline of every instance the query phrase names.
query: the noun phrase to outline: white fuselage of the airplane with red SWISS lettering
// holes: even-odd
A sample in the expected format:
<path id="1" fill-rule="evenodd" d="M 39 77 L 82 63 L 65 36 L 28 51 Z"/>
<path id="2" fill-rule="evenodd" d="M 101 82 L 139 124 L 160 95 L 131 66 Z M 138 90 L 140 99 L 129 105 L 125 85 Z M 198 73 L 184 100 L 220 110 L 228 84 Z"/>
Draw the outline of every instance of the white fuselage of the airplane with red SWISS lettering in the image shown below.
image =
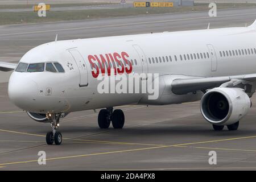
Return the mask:
<path id="1" fill-rule="evenodd" d="M 98 93 L 97 76 L 104 69 L 98 61 L 104 59 L 115 64 L 121 61 L 123 67 L 115 68 L 121 75 L 158 73 L 158 99 L 147 100 L 143 93 Z M 200 100 L 203 93 L 172 93 L 171 82 L 176 78 L 255 73 L 256 31 L 254 27 L 221 28 L 64 40 L 31 49 L 20 59 L 20 63 L 27 64 L 52 61 L 60 63 L 65 72 L 13 72 L 9 97 L 14 104 L 34 113 L 179 104 Z"/>

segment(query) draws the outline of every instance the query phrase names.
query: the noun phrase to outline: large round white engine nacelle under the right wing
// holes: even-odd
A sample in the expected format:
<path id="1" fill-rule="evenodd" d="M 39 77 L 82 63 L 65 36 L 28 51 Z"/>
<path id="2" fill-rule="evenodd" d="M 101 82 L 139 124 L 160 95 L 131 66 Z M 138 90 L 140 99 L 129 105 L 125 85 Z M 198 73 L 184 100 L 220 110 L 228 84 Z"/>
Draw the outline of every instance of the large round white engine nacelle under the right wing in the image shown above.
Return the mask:
<path id="1" fill-rule="evenodd" d="M 243 89 L 219 87 L 204 94 L 200 110 L 213 125 L 231 125 L 244 117 L 250 107 L 250 98 Z"/>

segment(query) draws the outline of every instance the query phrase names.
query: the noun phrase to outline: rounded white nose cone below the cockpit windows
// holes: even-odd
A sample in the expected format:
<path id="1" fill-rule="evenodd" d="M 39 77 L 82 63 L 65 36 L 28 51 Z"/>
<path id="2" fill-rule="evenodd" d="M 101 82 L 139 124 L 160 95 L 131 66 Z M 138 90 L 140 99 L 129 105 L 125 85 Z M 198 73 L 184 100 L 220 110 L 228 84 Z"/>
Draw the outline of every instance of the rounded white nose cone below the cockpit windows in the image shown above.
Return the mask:
<path id="1" fill-rule="evenodd" d="M 11 102 L 23 110 L 33 109 L 38 96 L 38 85 L 27 74 L 13 72 L 9 80 L 8 94 Z"/>

